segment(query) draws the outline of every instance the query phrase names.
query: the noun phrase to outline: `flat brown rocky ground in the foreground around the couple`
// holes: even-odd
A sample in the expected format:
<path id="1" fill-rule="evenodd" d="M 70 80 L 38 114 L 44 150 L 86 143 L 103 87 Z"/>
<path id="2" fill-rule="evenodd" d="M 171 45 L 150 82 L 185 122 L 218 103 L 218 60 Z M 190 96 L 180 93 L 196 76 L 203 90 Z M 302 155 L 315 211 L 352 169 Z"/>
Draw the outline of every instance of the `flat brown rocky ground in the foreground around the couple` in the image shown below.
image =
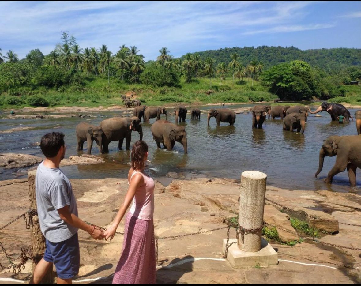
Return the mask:
<path id="1" fill-rule="evenodd" d="M 175 177 L 171 174 L 171 177 Z M 183 176 L 179 176 L 181 178 Z M 155 234 L 158 237 L 197 233 L 225 226 L 223 220 L 238 212 L 239 182 L 230 179 L 200 178 L 171 179 L 155 188 Z M 0 226 L 29 209 L 28 183 L 24 179 L 0 182 Z M 161 181 L 161 180 L 160 180 Z M 208 182 L 207 182 L 208 181 Z M 77 198 L 79 217 L 93 224 L 107 227 L 118 211 L 127 191 L 126 179 L 73 179 L 71 183 Z M 319 241 L 342 246 L 361 248 L 361 227 L 337 224 L 360 224 L 361 197 L 352 193 L 330 191 L 296 191 L 268 187 L 266 198 L 294 209 L 292 213 L 279 212 L 278 205 L 266 202 L 264 220 L 270 225 L 290 231 L 282 239 L 297 239 L 288 221 L 289 216 L 305 217 L 306 214 L 327 218 L 328 224 L 317 221 L 320 228 L 334 231 Z M 118 231 L 123 231 L 123 222 Z M 222 258 L 222 242 L 226 229 L 183 238 L 159 239 L 157 283 L 361 283 L 361 252 L 327 246 L 305 240 L 295 246 L 273 244 L 278 252 L 279 264 L 270 267 L 234 269 Z M 287 231 L 286 231 L 287 233 Z M 302 236 L 302 235 L 300 235 Z M 23 219 L 0 231 L 0 241 L 6 250 L 17 256 L 22 246 L 28 246 L 29 230 Z M 235 237 L 234 230 L 231 238 Z M 84 231 L 79 231 L 81 268 L 74 283 L 108 284 L 121 255 L 122 235 L 113 241 L 97 242 Z M 293 262 L 292 262 L 293 261 Z M 0 262 L 8 265 L 3 254 Z M 294 263 L 297 262 L 297 263 Z M 303 263 L 303 264 L 300 264 Z M 173 264 L 176 264 L 173 266 Z M 311 264 L 311 265 L 309 265 Z M 316 265 L 315 265 L 316 264 Z M 170 267 L 167 267 L 170 265 Z M 173 267 L 172 267 L 173 266 Z M 255 265 L 256 266 L 256 265 Z M 31 264 L 21 274 L 0 273 L 1 278 L 28 280 Z M 97 279 L 97 280 L 96 280 Z M 12 282 L 16 283 L 16 282 Z"/>

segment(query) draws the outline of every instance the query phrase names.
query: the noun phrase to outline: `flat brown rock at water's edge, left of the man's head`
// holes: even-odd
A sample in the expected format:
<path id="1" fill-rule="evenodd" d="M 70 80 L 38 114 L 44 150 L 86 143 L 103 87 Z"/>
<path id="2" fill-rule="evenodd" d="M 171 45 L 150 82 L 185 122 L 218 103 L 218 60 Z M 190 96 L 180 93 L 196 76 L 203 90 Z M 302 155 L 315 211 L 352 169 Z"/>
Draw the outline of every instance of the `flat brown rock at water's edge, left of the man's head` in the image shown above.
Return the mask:
<path id="1" fill-rule="evenodd" d="M 41 161 L 43 161 L 43 158 L 27 154 L 0 154 L 0 167 L 4 167 L 4 169 L 29 167 Z"/>

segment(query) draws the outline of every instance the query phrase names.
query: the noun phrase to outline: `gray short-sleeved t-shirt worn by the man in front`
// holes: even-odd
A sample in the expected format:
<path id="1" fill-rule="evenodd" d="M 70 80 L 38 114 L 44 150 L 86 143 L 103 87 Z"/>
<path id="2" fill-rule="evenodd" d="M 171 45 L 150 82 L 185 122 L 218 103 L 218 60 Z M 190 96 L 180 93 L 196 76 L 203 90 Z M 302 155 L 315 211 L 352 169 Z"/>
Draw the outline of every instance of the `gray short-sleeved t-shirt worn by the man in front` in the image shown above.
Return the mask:
<path id="1" fill-rule="evenodd" d="M 35 178 L 36 204 L 40 229 L 50 242 L 61 242 L 77 233 L 74 228 L 62 220 L 58 209 L 68 205 L 69 211 L 78 216 L 78 207 L 73 188 L 61 170 L 38 166 Z"/>

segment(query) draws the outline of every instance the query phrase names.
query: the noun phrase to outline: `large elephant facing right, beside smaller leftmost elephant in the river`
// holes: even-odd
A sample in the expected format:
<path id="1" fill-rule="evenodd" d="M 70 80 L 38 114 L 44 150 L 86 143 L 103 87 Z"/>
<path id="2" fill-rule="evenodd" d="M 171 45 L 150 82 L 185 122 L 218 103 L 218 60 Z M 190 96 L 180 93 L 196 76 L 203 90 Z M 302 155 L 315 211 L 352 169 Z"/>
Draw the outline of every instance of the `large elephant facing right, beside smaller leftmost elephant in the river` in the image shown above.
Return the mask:
<path id="1" fill-rule="evenodd" d="M 112 117 L 100 122 L 103 129 L 103 151 L 109 153 L 109 143 L 118 142 L 118 149 L 122 149 L 123 140 L 125 138 L 125 148 L 129 150 L 130 141 L 132 139 L 132 131 L 138 131 L 139 140 L 143 139 L 142 123 L 138 117 Z"/>

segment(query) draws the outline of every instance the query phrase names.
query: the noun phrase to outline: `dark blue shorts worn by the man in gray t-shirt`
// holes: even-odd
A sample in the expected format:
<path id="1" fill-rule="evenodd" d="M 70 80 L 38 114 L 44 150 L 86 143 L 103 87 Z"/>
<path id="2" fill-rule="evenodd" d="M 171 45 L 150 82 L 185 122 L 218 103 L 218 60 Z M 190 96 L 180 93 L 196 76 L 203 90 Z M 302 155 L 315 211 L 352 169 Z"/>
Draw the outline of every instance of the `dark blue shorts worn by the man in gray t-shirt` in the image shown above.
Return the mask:
<path id="1" fill-rule="evenodd" d="M 44 260 L 54 263 L 56 273 L 61 279 L 70 279 L 77 275 L 80 265 L 78 233 L 61 242 L 46 239 Z"/>

